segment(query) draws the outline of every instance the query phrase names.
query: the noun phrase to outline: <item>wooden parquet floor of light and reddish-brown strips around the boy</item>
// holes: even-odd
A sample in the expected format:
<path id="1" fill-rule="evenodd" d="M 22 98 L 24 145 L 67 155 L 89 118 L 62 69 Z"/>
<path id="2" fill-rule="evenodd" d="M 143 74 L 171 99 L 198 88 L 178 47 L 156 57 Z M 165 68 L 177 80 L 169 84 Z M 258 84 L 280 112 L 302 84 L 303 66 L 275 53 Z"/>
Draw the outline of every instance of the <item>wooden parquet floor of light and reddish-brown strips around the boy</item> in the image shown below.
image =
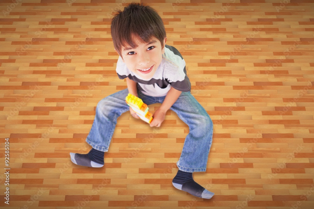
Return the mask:
<path id="1" fill-rule="evenodd" d="M 0 2 L 2 208 L 314 208 L 313 0 L 141 1 L 214 122 L 207 170 L 194 173 L 210 200 L 171 184 L 189 132 L 172 111 L 160 128 L 124 113 L 103 168 L 70 161 L 91 148 L 98 101 L 127 87 L 110 18 L 131 1 L 13 2 Z"/>

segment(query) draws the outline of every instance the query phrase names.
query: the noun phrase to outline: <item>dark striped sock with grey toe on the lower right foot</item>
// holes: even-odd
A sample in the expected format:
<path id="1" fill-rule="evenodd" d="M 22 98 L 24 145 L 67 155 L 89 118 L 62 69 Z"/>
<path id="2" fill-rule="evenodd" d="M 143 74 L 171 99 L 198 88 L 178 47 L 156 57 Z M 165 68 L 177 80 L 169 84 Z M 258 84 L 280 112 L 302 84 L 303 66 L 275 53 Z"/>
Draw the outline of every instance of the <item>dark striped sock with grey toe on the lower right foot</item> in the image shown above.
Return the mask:
<path id="1" fill-rule="evenodd" d="M 214 196 L 213 192 L 206 190 L 193 180 L 193 173 L 178 170 L 177 175 L 173 178 L 172 184 L 179 190 L 186 191 L 196 197 L 210 199 Z"/>

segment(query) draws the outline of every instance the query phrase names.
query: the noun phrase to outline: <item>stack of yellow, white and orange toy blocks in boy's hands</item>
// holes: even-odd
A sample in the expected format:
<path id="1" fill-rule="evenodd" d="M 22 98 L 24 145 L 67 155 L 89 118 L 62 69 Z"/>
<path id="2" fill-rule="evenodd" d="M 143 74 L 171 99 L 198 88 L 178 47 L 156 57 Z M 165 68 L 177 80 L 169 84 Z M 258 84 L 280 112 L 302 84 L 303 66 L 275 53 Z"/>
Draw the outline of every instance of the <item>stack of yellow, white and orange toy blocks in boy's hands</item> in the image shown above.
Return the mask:
<path id="1" fill-rule="evenodd" d="M 134 112 L 136 112 L 138 117 L 146 123 L 150 123 L 153 120 L 153 114 L 148 112 L 149 108 L 147 107 L 147 104 L 140 98 L 129 93 L 127 97 L 125 97 L 125 102 L 134 110 Z"/>

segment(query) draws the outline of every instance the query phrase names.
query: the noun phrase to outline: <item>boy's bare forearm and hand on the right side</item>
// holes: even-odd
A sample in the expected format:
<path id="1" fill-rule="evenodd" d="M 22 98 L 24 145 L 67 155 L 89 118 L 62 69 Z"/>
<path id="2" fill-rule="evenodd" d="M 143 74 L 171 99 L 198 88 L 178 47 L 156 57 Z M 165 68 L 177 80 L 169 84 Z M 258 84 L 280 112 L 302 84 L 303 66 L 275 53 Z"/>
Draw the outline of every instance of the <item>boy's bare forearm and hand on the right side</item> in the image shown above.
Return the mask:
<path id="1" fill-rule="evenodd" d="M 171 89 L 168 91 L 164 102 L 162 102 L 156 112 L 154 112 L 154 119 L 150 123 L 150 127 L 156 126 L 160 127 L 161 123 L 165 120 L 166 112 L 170 109 L 170 107 L 177 101 L 182 91 L 176 90 L 171 86 Z"/>

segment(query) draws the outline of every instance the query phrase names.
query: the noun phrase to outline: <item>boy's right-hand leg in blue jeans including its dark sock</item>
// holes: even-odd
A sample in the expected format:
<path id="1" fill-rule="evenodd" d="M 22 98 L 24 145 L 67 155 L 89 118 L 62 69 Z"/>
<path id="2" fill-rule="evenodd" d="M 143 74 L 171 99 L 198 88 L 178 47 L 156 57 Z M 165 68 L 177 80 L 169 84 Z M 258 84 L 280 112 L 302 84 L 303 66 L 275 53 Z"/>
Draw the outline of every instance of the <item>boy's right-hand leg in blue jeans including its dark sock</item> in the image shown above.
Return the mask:
<path id="1" fill-rule="evenodd" d="M 192 173 L 206 171 L 209 149 L 213 139 L 212 120 L 190 92 L 182 92 L 170 109 L 176 112 L 190 128 L 177 162 L 179 171 L 172 183 L 177 189 L 209 199 L 214 193 L 196 183 Z"/>

